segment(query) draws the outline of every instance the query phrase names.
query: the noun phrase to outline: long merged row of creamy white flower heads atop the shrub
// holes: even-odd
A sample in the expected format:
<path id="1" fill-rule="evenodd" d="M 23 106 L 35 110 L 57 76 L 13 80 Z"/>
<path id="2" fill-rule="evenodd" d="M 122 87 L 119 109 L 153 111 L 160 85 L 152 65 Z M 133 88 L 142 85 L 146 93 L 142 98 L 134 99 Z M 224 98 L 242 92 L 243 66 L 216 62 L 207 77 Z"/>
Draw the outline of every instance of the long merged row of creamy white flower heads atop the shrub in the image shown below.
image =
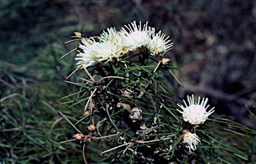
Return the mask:
<path id="1" fill-rule="evenodd" d="M 99 41 L 95 41 L 90 37 L 82 38 L 82 43 L 79 48 L 83 51 L 78 51 L 77 65 L 81 67 L 89 67 L 101 62 L 112 61 L 119 59 L 123 55 L 144 48 L 149 49 L 151 55 L 155 55 L 157 50 L 159 53 L 168 51 L 173 47 L 173 43 L 161 31 L 155 33 L 154 27 L 139 25 L 133 21 L 130 25 L 125 25 L 121 31 L 116 31 L 114 27 L 103 31 L 99 37 Z"/>

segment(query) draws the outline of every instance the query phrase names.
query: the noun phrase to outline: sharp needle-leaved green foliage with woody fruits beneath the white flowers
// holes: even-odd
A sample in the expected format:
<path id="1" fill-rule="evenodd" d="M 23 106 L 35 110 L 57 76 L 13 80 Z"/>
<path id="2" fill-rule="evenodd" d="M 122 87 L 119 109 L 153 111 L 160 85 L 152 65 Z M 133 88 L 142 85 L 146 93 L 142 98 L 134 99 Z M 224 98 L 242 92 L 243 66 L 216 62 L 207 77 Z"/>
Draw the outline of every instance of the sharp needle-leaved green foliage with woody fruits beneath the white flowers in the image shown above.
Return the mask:
<path id="1" fill-rule="evenodd" d="M 81 70 L 85 75 L 82 75 L 81 82 L 67 81 L 80 87 L 79 91 L 63 97 L 63 99 L 73 97 L 73 100 L 63 104 L 80 108 L 78 112 L 84 114 L 74 123 L 69 121 L 72 116 L 63 115 L 63 117 L 73 127 L 87 124 L 87 126 L 95 126 L 96 130 L 84 133 L 83 129 L 75 127 L 78 134 L 83 136 L 75 138 L 81 141 L 83 147 L 87 146 L 88 141 L 101 139 L 98 144 L 104 156 L 99 162 L 253 161 L 255 157 L 252 150 L 255 146 L 251 141 L 255 141 L 254 130 L 248 131 L 247 127 L 228 119 L 219 118 L 226 121 L 211 119 L 213 123 L 225 123 L 225 126 L 248 131 L 247 135 L 229 129 L 224 129 L 226 131 L 223 133 L 223 130 L 219 129 L 220 125 L 217 125 L 215 131 L 211 124 L 193 126 L 179 117 L 178 102 L 175 100 L 179 97 L 161 83 L 163 72 L 167 70 L 171 72 L 171 69 L 175 68 L 163 64 L 163 56 L 153 57 L 149 55 L 147 49 L 135 51 L 119 60 L 83 67 Z M 187 129 L 197 132 L 201 138 L 196 151 L 189 152 L 185 144 L 181 143 Z M 230 145 L 225 137 L 235 139 L 239 137 L 237 134 L 249 138 L 249 141 L 243 142 L 244 145 L 239 147 Z M 249 146 L 249 151 L 243 148 L 245 145 Z M 83 150 L 83 154 L 87 163 L 87 151 Z M 228 159 L 227 154 L 231 155 Z"/>

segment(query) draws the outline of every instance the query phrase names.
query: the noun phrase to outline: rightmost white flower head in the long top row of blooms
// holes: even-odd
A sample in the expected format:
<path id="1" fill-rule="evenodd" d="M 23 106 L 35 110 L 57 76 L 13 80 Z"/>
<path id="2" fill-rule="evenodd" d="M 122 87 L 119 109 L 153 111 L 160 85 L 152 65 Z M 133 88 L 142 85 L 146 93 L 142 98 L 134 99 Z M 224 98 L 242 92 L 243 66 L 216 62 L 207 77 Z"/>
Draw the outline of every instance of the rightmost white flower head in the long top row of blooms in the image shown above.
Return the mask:
<path id="1" fill-rule="evenodd" d="M 152 28 L 152 35 L 152 39 L 147 44 L 147 48 L 151 52 L 151 55 L 155 55 L 156 49 L 161 53 L 168 51 L 173 47 L 173 43 L 169 40 L 169 36 L 165 38 L 165 34 L 161 34 L 161 31 L 155 35 L 155 28 Z"/>

